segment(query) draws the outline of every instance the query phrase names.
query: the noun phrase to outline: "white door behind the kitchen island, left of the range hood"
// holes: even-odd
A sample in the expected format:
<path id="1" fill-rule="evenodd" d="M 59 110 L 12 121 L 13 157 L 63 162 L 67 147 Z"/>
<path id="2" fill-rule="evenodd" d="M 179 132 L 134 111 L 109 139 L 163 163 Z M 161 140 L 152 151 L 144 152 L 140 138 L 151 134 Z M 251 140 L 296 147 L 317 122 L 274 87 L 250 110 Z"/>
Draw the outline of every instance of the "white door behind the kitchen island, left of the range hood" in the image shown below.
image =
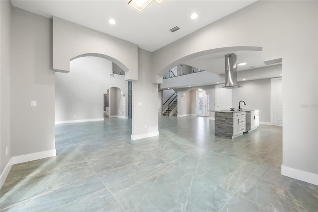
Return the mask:
<path id="1" fill-rule="evenodd" d="M 215 110 L 230 110 L 232 107 L 232 89 L 222 88 L 225 86 L 215 85 Z"/>

